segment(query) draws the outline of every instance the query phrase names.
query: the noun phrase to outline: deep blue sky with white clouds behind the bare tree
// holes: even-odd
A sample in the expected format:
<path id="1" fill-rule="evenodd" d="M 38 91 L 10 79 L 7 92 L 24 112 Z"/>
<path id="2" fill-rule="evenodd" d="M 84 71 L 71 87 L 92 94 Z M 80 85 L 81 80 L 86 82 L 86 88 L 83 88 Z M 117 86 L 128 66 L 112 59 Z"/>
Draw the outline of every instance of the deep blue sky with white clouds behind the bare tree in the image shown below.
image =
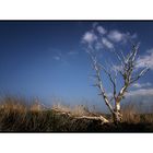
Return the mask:
<path id="1" fill-rule="evenodd" d="M 96 32 L 105 35 L 103 47 L 99 47 L 102 60 L 116 62 L 114 55 L 108 51 L 111 48 L 121 48 L 127 54 L 130 49 L 127 35 L 140 43 L 139 67 L 143 68 L 143 62 L 146 62 L 151 70 L 133 84 L 127 99 L 151 103 L 153 22 L 1 21 L 0 94 L 39 97 L 44 103 L 50 103 L 52 97 L 70 104 L 86 103 L 84 99 L 87 99 L 91 105 L 101 106 L 97 90 L 92 86 L 90 79 L 93 71 L 83 44 L 84 38 L 94 39 L 87 33 L 96 35 Z M 106 76 L 104 85 L 110 93 Z"/>

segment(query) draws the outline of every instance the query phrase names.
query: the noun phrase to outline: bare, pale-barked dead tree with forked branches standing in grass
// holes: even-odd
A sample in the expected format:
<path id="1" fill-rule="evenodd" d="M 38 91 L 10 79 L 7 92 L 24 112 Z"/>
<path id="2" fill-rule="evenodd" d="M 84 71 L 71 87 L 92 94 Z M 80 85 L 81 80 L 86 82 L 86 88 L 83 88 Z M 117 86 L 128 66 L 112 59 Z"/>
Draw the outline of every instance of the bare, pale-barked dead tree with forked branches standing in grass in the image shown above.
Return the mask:
<path id="1" fill-rule="evenodd" d="M 115 56 L 117 57 L 119 64 L 116 69 L 114 69 L 114 73 L 111 70 L 108 70 L 104 63 L 101 63 L 97 59 L 97 55 L 92 50 L 87 49 L 87 54 L 91 57 L 93 69 L 95 71 L 95 84 L 99 91 L 99 95 L 103 97 L 106 106 L 113 115 L 113 120 L 115 123 L 121 122 L 122 114 L 120 108 L 120 102 L 125 97 L 129 86 L 132 83 L 137 82 L 142 75 L 144 75 L 149 68 L 145 67 L 141 69 L 139 72 L 137 70 L 137 56 L 139 51 L 139 45 L 132 45 L 131 51 L 128 55 L 123 55 L 122 51 L 117 52 L 114 50 Z M 137 71 L 136 71 L 137 70 Z M 108 96 L 105 91 L 103 83 L 103 74 L 108 76 L 111 86 L 113 86 L 113 96 Z M 120 75 L 122 78 L 123 84 L 122 87 L 117 92 L 117 76 Z M 111 104 L 114 102 L 114 104 Z"/>

